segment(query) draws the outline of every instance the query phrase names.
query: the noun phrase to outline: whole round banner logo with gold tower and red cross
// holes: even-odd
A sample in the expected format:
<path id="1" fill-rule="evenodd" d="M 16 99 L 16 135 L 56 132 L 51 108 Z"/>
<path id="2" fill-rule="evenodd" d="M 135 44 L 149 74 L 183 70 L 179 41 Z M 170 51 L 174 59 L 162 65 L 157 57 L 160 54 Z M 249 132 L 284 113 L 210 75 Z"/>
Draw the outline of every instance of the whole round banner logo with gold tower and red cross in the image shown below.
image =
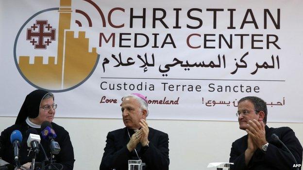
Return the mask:
<path id="1" fill-rule="evenodd" d="M 47 18 L 49 13 L 54 17 Z M 60 8 L 34 14 L 17 33 L 15 63 L 20 75 L 35 88 L 69 91 L 84 83 L 97 67 L 100 55 L 96 47 L 89 49 L 85 31 L 77 32 L 76 37 L 70 30 L 72 14 L 71 0 L 61 0 Z"/>

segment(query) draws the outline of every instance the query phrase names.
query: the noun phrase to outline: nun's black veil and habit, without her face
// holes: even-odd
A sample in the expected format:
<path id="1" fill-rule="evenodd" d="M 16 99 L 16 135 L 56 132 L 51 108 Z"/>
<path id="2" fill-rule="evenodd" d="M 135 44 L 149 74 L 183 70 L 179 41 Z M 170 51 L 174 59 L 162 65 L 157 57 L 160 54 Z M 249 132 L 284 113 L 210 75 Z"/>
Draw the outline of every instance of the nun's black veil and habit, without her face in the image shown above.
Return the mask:
<path id="1" fill-rule="evenodd" d="M 27 117 L 34 119 L 39 116 L 40 103 L 43 97 L 48 93 L 49 92 L 44 90 L 35 90 L 32 93 L 29 93 L 26 96 L 22 107 L 20 108 L 16 123 L 5 129 L 3 132 L 1 132 L 0 157 L 6 162 L 15 165 L 14 149 L 10 141 L 10 135 L 14 130 L 19 130 L 23 137 L 21 142 L 21 147 L 19 150 L 20 164 L 23 165 L 27 162 L 32 162 L 32 158 L 34 154 L 33 152 L 31 152 L 31 154 L 28 156 L 29 154 L 28 149 L 30 148 L 28 148 L 26 143 L 28 139 L 28 136 L 26 135 L 26 131 L 29 128 L 33 128 L 33 127 L 31 127 L 26 123 L 26 119 Z M 59 126 L 55 123 L 51 123 L 51 125 L 57 134 L 57 138 L 55 140 L 59 143 L 61 147 L 60 153 L 58 155 L 54 155 L 54 159 L 56 160 L 56 163 L 60 163 L 63 165 L 63 170 L 72 170 L 75 160 L 74 160 L 73 147 L 68 132 L 62 126 Z M 40 134 L 42 129 L 40 128 L 35 128 L 35 129 Z M 44 140 L 41 135 L 40 137 L 41 137 L 41 144 L 47 156 L 50 157 L 50 142 Z M 44 159 L 45 156 L 43 155 L 43 152 L 40 151 L 36 157 L 36 162 L 42 162 Z"/>

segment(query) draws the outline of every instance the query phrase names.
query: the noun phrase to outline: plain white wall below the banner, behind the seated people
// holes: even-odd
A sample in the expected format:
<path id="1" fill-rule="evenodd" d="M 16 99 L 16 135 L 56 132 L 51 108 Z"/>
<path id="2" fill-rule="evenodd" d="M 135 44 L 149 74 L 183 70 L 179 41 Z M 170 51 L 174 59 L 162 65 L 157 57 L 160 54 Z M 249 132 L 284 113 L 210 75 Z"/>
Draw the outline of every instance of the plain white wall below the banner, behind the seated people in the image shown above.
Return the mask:
<path id="1" fill-rule="evenodd" d="M 0 131 L 15 120 L 16 117 L 0 117 Z M 54 122 L 69 132 L 76 159 L 74 170 L 99 170 L 107 133 L 124 127 L 121 119 L 55 118 Z M 232 142 L 245 135 L 237 122 L 148 120 L 148 123 L 168 133 L 170 170 L 206 170 L 209 162 L 228 161 Z M 302 123 L 268 125 L 292 128 L 303 144 Z"/>

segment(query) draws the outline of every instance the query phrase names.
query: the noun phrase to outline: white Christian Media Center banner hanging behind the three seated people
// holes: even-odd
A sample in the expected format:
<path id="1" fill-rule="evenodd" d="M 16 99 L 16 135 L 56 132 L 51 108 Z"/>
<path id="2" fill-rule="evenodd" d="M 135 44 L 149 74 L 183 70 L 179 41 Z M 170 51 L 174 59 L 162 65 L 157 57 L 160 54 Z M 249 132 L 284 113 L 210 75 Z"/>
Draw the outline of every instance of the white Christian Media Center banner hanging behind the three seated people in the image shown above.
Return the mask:
<path id="1" fill-rule="evenodd" d="M 303 122 L 301 0 L 0 1 L 0 116 L 32 90 L 59 117 L 120 118 L 142 93 L 150 119 L 235 121 L 258 96 L 269 122 Z"/>

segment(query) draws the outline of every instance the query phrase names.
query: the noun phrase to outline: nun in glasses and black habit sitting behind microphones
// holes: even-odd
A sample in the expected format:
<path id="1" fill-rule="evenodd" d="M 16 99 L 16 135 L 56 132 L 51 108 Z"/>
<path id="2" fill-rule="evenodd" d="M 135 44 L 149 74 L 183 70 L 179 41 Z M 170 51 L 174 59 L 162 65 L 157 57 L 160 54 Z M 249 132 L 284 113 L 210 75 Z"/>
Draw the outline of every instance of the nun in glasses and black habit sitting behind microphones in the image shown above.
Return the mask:
<path id="1" fill-rule="evenodd" d="M 15 124 L 1 132 L 0 157 L 8 163 L 16 165 L 14 160 L 14 148 L 10 136 L 14 130 L 19 130 L 23 139 L 20 143 L 18 162 L 20 165 L 28 165 L 32 162 L 34 152 L 27 146 L 27 139 L 29 137 L 29 131 L 33 132 L 34 128 L 34 131 L 41 137 L 41 145 L 43 147 L 43 149 L 40 147 L 41 149 L 36 155 L 35 162 L 43 162 L 46 160 L 46 157 L 51 157 L 52 160 L 54 160 L 53 162 L 55 162 L 54 166 L 56 166 L 56 168 L 54 169 L 72 170 L 75 159 L 69 134 L 62 126 L 52 122 L 56 113 L 56 108 L 57 104 L 54 103 L 53 93 L 45 90 L 35 90 L 32 93 L 29 93 L 20 108 Z M 41 131 L 44 130 L 41 128 L 42 123 L 51 124 L 50 126 L 52 126 L 52 129 L 56 134 L 54 140 L 58 142 L 61 149 L 59 154 L 51 154 L 50 141 L 42 138 Z M 43 150 L 45 151 L 46 156 Z"/>

